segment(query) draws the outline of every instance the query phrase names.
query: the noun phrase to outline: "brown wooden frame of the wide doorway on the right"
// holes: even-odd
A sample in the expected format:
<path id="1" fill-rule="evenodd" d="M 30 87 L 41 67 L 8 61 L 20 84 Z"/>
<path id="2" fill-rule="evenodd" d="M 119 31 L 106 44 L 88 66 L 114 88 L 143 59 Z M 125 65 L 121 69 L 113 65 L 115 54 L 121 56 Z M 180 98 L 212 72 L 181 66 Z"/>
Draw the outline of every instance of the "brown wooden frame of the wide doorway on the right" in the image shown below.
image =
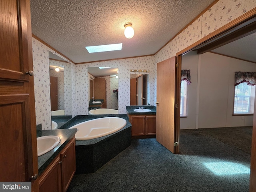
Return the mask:
<path id="1" fill-rule="evenodd" d="M 201 40 L 195 42 L 194 44 L 188 46 L 184 50 L 181 50 L 176 54 L 178 57 L 177 64 L 181 69 L 181 58 L 182 55 L 192 51 L 197 50 L 198 54 L 208 52 L 225 44 L 228 44 L 234 40 L 247 36 L 256 32 L 256 8 L 246 12 L 242 16 L 234 19 L 228 24 L 222 26 L 218 30 L 212 32 L 211 34 L 205 36 Z M 181 71 L 179 72 L 181 75 Z M 177 84 L 176 84 L 176 99 L 180 99 L 180 92 L 178 92 L 178 74 L 177 74 Z M 256 99 L 255 99 L 256 100 Z M 251 152 L 251 174 L 250 174 L 250 192 L 256 190 L 256 104 L 254 105 L 254 120 L 253 120 L 253 132 L 252 132 L 252 152 Z M 180 117 L 175 116 L 176 125 L 175 130 L 178 134 L 178 148 L 179 148 L 179 131 L 180 131 Z"/>

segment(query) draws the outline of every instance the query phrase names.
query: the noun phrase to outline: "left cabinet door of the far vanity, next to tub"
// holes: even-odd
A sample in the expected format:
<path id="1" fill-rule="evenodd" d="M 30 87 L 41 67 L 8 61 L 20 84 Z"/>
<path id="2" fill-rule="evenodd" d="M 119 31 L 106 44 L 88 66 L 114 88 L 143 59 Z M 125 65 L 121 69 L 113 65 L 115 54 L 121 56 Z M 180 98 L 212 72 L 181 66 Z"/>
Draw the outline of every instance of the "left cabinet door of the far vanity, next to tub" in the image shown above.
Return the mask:
<path id="1" fill-rule="evenodd" d="M 131 116 L 132 136 L 145 134 L 145 116 Z"/>

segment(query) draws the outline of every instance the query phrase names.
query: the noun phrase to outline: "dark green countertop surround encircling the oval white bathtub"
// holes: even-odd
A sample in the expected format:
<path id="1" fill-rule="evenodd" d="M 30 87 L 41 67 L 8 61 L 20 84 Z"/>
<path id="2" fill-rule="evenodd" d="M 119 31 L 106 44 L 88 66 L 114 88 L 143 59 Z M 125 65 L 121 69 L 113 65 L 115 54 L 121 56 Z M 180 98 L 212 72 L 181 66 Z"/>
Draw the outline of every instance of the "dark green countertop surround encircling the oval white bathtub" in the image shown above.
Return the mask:
<path id="1" fill-rule="evenodd" d="M 120 132 L 130 126 L 132 126 L 132 124 L 129 122 L 128 120 L 128 117 L 126 114 L 104 114 L 104 115 L 79 115 L 79 116 L 76 116 L 74 118 L 72 118 L 72 120 L 68 121 L 64 126 L 61 127 L 61 129 L 68 129 L 78 123 L 81 123 L 81 122 L 84 122 L 84 121 L 88 121 L 88 120 L 92 120 L 92 119 L 96 119 L 96 118 L 102 118 L 102 117 L 120 117 L 120 118 L 124 118 L 126 120 L 126 125 L 118 130 L 117 132 Z M 115 133 L 117 133 L 115 132 Z M 102 137 L 99 137 L 99 138 L 94 138 L 94 139 L 89 139 L 89 140 L 77 140 L 76 141 L 76 147 L 78 146 L 83 146 L 86 145 L 87 147 L 90 147 L 94 144 L 100 144 L 100 142 L 102 140 L 105 140 L 106 138 L 108 138 L 109 136 L 115 134 L 115 133 L 112 133 L 112 134 L 109 134 L 109 135 L 106 135 L 106 136 L 102 136 Z"/>

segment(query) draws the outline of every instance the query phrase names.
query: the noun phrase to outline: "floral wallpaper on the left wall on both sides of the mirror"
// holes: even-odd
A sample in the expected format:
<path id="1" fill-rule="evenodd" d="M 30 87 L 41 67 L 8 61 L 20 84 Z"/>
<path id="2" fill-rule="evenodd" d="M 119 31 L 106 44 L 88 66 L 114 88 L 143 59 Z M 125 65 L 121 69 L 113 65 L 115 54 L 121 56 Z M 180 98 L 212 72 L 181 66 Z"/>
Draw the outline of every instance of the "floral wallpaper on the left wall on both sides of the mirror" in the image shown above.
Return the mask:
<path id="1" fill-rule="evenodd" d="M 52 129 L 51 123 L 51 100 L 50 100 L 50 68 L 49 68 L 49 51 L 55 53 L 59 57 L 64 58 L 55 51 L 48 48 L 46 45 L 42 44 L 35 38 L 32 38 L 32 54 L 33 54 L 33 68 L 34 68 L 34 90 L 35 90 L 35 106 L 36 106 L 36 124 L 42 124 L 42 130 Z M 68 60 L 66 60 L 68 61 Z M 68 61 L 70 62 L 70 61 Z M 74 64 L 64 63 L 64 68 L 66 65 L 68 67 L 64 70 L 64 77 L 68 76 L 66 80 L 72 82 L 74 85 L 75 74 L 72 74 L 72 68 L 74 73 Z M 73 67 L 72 67 L 73 66 Z M 70 70 L 69 70 L 70 69 Z M 67 74 L 68 75 L 67 75 Z M 69 84 L 64 82 L 64 102 L 65 102 L 65 114 L 76 115 L 76 109 L 72 108 L 75 106 L 75 86 L 70 87 Z M 72 90 L 70 90 L 72 89 Z M 74 90 L 73 90 L 74 89 Z M 67 91 L 68 90 L 68 91 Z M 67 94 L 72 93 L 71 96 Z"/>

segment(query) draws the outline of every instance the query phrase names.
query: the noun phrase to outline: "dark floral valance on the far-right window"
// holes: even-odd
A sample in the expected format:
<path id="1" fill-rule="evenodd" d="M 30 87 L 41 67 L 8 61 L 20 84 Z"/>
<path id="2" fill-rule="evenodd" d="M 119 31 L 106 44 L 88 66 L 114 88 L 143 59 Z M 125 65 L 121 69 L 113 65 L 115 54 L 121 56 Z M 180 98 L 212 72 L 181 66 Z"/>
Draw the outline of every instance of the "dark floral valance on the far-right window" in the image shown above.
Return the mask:
<path id="1" fill-rule="evenodd" d="M 235 72 L 235 86 L 244 82 L 247 85 L 255 85 L 256 72 Z"/>

